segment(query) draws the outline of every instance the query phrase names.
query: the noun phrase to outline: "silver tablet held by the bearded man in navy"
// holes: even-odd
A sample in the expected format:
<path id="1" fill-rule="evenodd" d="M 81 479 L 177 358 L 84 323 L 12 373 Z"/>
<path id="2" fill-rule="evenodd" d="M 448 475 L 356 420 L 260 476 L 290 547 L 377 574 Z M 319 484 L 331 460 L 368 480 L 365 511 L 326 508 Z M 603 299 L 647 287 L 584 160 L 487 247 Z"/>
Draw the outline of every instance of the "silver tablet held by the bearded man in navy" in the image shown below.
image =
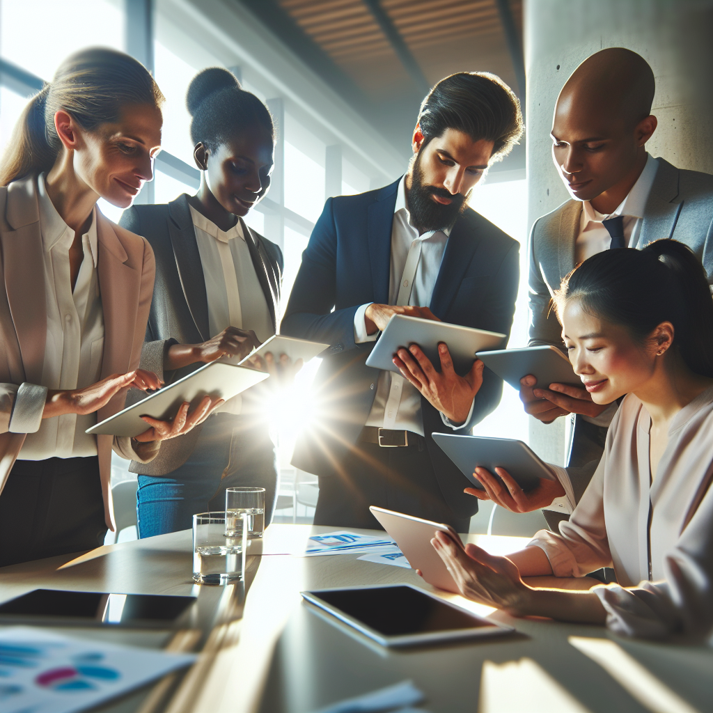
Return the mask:
<path id="1" fill-rule="evenodd" d="M 389 319 L 389 324 L 386 324 L 381 337 L 376 340 L 376 346 L 366 359 L 366 366 L 395 371 L 399 374 L 399 369 L 396 369 L 394 362 L 391 361 L 394 354 L 401 347 L 418 344 L 424 354 L 431 359 L 431 364 L 441 371 L 438 344 L 445 342 L 448 344 L 448 351 L 451 352 L 453 368 L 458 374 L 464 375 L 471 370 L 476 352 L 502 347 L 504 339 L 506 339 L 505 334 L 499 332 L 486 332 L 483 329 L 461 327 L 460 324 L 395 314 Z"/>

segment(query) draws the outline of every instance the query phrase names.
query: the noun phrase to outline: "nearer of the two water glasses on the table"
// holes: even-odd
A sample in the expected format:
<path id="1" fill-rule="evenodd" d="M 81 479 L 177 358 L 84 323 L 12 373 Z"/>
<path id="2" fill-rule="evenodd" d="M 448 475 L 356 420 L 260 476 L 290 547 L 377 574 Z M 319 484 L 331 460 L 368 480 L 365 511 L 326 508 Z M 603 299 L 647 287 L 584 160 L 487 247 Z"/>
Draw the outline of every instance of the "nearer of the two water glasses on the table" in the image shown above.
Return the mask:
<path id="1" fill-rule="evenodd" d="M 247 528 L 241 530 L 245 532 Z M 193 515 L 193 581 L 227 584 L 242 580 L 246 545 L 245 535 L 225 535 L 225 513 Z"/>

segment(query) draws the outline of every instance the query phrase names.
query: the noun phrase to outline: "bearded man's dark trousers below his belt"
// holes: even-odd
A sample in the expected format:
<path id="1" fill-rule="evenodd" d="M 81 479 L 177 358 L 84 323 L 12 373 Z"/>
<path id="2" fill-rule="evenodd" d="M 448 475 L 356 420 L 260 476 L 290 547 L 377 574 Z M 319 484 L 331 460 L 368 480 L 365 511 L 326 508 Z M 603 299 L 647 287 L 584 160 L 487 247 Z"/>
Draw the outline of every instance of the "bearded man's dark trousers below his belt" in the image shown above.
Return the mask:
<path id="1" fill-rule="evenodd" d="M 423 438 L 402 448 L 356 443 L 338 475 L 319 478 L 314 524 L 383 530 L 370 505 L 447 523 L 456 532 L 467 533 L 470 525 L 443 499 Z"/>

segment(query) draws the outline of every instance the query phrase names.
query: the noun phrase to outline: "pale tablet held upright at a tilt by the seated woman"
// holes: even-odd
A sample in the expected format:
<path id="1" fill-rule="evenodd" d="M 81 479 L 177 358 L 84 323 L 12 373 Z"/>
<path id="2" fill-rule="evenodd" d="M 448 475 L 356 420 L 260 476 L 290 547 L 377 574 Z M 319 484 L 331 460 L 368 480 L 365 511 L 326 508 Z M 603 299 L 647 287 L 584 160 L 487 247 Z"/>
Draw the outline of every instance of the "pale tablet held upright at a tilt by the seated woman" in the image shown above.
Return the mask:
<path id="1" fill-rule="evenodd" d="M 421 570 L 424 580 L 434 587 L 458 593 L 458 585 L 453 581 L 446 565 L 443 564 L 441 556 L 431 545 L 431 540 L 437 530 L 447 533 L 456 543 L 461 543 L 461 538 L 456 530 L 451 528 L 451 525 L 421 520 L 414 515 L 404 515 L 404 513 L 396 513 L 393 510 L 377 508 L 374 505 L 369 510 L 379 520 L 381 527 L 396 540 L 399 550 L 409 560 L 411 569 Z"/>

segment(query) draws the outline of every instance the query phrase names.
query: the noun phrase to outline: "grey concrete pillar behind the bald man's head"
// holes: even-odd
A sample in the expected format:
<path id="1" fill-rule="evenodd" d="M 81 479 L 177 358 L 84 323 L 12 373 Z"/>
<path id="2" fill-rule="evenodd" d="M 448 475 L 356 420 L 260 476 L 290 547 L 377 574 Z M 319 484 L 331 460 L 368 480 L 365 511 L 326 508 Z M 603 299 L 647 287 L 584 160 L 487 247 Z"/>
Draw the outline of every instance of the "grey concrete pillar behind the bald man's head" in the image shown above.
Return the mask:
<path id="1" fill-rule="evenodd" d="M 569 198 L 551 158 L 555 100 L 578 64 L 605 47 L 631 49 L 654 71 L 650 153 L 713 173 L 713 0 L 525 0 L 524 34 L 530 225 Z M 533 424 L 530 439 L 561 463 L 565 419 Z"/>

